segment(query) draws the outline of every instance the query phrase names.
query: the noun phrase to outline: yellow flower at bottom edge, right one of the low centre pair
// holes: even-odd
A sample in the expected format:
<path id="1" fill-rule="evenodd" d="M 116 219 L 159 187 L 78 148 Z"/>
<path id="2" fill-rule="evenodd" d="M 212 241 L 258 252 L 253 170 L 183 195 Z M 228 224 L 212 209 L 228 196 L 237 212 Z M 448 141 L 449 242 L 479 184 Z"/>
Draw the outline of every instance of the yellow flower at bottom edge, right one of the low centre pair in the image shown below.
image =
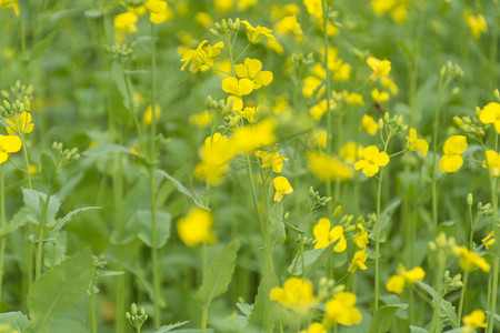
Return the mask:
<path id="1" fill-rule="evenodd" d="M 361 312 L 354 306 L 356 295 L 350 292 L 339 292 L 327 302 L 327 315 L 323 325 L 331 326 L 339 323 L 344 326 L 359 324 L 362 320 Z"/>

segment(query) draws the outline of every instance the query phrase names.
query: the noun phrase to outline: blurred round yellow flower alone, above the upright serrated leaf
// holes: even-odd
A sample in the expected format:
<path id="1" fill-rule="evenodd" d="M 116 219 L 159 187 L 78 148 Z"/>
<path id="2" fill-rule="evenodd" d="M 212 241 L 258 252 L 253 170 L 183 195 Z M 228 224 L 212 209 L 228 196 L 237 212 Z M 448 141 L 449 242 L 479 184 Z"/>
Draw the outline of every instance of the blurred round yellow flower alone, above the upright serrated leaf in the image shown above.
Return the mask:
<path id="1" fill-rule="evenodd" d="M 216 235 L 211 229 L 213 216 L 209 211 L 194 208 L 186 218 L 177 222 L 177 231 L 181 241 L 188 246 L 196 246 L 201 243 L 213 243 Z"/>

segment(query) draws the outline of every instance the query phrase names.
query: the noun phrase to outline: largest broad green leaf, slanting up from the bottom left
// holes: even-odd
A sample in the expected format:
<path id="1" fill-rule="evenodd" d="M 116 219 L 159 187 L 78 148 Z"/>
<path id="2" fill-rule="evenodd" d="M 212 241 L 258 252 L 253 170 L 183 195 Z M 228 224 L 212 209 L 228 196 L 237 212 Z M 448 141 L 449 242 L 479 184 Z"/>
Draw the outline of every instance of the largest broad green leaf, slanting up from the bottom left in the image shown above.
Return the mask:
<path id="1" fill-rule="evenodd" d="M 38 278 L 27 299 L 30 332 L 43 332 L 57 315 L 74 305 L 89 289 L 92 271 L 92 256 L 87 249 Z"/>

